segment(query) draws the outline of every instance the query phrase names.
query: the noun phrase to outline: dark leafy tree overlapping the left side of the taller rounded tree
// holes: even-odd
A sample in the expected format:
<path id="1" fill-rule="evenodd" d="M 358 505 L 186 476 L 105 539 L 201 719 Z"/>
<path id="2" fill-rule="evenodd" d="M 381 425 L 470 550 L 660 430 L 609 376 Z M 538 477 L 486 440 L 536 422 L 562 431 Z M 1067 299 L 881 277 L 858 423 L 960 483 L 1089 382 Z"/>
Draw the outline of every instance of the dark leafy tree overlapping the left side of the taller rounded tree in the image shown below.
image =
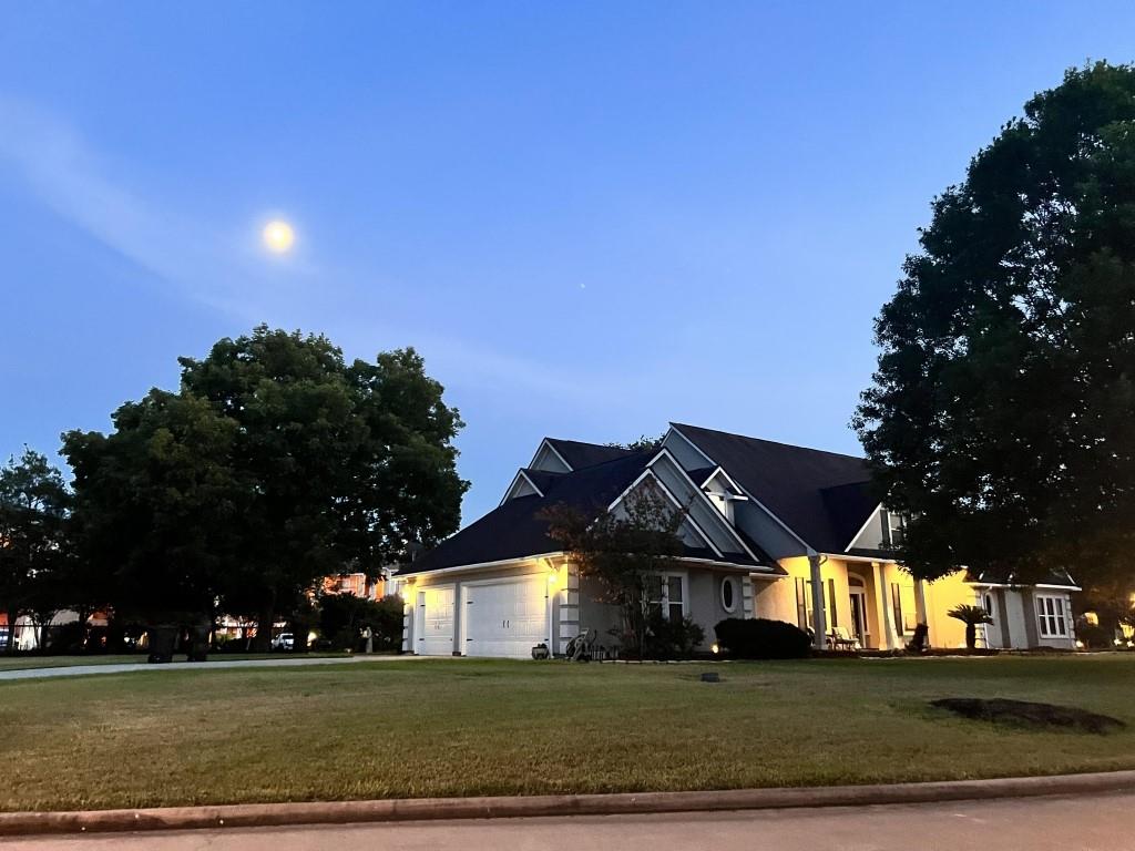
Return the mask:
<path id="1" fill-rule="evenodd" d="M 64 435 L 89 583 L 118 617 L 208 622 L 237 564 L 249 503 L 230 465 L 236 423 L 203 399 L 158 389 L 112 421 L 109 436 Z"/>

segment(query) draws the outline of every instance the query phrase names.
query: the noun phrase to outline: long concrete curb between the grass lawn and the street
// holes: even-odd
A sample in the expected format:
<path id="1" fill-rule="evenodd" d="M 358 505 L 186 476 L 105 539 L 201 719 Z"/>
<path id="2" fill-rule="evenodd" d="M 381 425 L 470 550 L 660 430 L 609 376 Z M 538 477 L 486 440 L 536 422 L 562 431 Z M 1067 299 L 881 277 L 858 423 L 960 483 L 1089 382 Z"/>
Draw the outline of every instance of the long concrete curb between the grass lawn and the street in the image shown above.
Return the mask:
<path id="1" fill-rule="evenodd" d="M 1135 770 L 1051 777 L 900 783 L 871 786 L 740 789 L 720 792 L 629 792 L 519 798 L 412 798 L 380 801 L 237 803 L 218 807 L 155 807 L 136 810 L 0 812 L 0 836 L 279 827 L 375 821 L 436 821 L 535 816 L 615 816 L 649 812 L 709 812 L 801 807 L 864 807 L 883 803 L 1092 794 L 1135 789 Z"/>

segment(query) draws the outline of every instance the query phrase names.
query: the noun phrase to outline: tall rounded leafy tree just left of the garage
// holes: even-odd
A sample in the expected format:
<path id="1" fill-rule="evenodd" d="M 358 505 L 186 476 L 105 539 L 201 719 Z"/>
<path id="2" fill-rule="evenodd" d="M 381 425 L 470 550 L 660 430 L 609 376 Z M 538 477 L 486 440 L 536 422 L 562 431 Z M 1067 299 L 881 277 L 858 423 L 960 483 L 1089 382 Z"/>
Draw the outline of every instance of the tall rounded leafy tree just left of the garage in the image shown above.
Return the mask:
<path id="1" fill-rule="evenodd" d="M 180 363 L 183 394 L 236 427 L 230 463 L 247 503 L 224 598 L 258 618 L 262 649 L 276 615 L 302 607 L 321 578 L 377 576 L 411 542 L 456 530 L 463 423 L 413 349 L 347 365 L 323 336 L 260 326 Z"/>

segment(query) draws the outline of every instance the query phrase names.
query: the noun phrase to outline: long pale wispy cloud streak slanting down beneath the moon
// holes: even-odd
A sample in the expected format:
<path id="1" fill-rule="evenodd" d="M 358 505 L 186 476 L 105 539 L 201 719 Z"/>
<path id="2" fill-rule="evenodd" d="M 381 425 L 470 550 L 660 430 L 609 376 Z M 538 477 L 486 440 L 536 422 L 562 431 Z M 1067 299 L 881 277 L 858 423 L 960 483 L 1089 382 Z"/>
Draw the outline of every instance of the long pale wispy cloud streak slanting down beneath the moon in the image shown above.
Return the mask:
<path id="1" fill-rule="evenodd" d="M 371 279 L 373 272 L 355 276 L 320 269 L 311 258 L 281 264 L 259 256 L 234 239 L 232 225 L 188 219 L 178 212 L 184 208 L 176 201 L 138 191 L 128 176 L 110 177 L 114 163 L 76 127 L 27 101 L 0 94 L 0 169 L 11 169 L 60 218 L 182 297 L 250 325 L 289 325 L 299 318 L 302 322 L 318 318 L 322 330 L 360 354 L 373 354 L 369 348 L 376 339 L 382 340 L 384 347 L 413 344 L 427 355 L 431 370 L 451 384 L 493 393 L 519 406 L 528 406 L 532 396 L 578 404 L 617 397 L 619 388 L 603 377 L 554 369 L 491 344 L 397 321 L 388 328 L 375 322 L 363 327 L 358 305 L 351 312 L 330 313 L 326 298 L 329 281 Z"/>

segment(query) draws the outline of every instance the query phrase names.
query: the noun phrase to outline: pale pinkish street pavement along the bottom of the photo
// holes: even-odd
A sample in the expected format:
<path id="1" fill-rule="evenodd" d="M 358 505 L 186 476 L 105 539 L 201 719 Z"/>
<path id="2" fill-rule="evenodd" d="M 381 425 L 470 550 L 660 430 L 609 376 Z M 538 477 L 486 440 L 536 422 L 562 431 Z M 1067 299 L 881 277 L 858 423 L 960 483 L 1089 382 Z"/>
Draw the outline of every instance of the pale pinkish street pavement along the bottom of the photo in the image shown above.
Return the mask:
<path id="1" fill-rule="evenodd" d="M 1135 793 L 657 816 L 45 836 L 6 851 L 1124 851 Z"/>

